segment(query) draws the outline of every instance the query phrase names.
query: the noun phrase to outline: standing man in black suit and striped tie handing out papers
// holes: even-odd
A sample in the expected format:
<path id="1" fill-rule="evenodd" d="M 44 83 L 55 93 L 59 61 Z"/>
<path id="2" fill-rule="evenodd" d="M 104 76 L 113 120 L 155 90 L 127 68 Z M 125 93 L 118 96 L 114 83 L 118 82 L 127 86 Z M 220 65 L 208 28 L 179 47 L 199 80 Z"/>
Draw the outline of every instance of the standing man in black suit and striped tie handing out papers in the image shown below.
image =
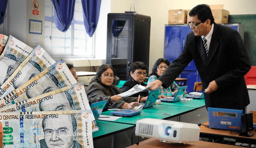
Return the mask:
<path id="1" fill-rule="evenodd" d="M 212 11 L 206 4 L 194 7 L 189 16 L 188 25 L 193 32 L 188 34 L 182 54 L 151 83 L 154 86 L 150 90 L 160 85 L 168 87 L 194 59 L 205 89 L 206 109 L 244 109 L 250 103 L 244 75 L 251 66 L 242 38 L 232 28 L 214 23 Z M 207 40 L 208 55 L 203 37 Z"/>

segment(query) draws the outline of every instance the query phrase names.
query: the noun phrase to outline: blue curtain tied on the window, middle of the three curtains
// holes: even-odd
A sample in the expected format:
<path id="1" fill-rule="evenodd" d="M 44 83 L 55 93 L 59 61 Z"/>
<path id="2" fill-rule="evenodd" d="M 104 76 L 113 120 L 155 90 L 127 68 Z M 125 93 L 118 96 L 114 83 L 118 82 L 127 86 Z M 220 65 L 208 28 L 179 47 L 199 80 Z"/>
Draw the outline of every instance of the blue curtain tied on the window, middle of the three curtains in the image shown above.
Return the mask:
<path id="1" fill-rule="evenodd" d="M 58 30 L 66 32 L 74 17 L 76 0 L 52 0 L 54 21 Z"/>

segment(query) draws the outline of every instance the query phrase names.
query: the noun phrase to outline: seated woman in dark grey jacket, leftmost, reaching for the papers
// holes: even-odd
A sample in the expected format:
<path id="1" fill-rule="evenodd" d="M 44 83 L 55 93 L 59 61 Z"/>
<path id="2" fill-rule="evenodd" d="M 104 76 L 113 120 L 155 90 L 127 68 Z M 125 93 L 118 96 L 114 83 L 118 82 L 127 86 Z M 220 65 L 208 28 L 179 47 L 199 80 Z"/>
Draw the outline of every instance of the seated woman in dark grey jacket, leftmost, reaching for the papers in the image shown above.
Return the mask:
<path id="1" fill-rule="evenodd" d="M 106 106 L 103 111 L 108 109 L 133 109 L 138 106 L 138 97 L 121 97 L 121 89 L 113 85 L 115 70 L 111 65 L 101 65 L 96 76 L 90 82 L 86 95 L 89 103 L 107 100 Z M 145 103 L 146 98 L 141 98 L 140 102 Z"/>

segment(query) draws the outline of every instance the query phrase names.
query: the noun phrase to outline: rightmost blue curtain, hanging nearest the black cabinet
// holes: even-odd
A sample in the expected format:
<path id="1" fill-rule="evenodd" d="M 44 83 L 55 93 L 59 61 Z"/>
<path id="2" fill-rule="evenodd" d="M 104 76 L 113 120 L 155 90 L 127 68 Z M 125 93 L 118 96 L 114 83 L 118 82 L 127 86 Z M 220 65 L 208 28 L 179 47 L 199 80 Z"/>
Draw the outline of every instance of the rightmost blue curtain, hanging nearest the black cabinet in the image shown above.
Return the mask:
<path id="1" fill-rule="evenodd" d="M 98 24 L 100 4 L 101 0 L 82 0 L 84 27 L 90 37 L 94 34 Z"/>

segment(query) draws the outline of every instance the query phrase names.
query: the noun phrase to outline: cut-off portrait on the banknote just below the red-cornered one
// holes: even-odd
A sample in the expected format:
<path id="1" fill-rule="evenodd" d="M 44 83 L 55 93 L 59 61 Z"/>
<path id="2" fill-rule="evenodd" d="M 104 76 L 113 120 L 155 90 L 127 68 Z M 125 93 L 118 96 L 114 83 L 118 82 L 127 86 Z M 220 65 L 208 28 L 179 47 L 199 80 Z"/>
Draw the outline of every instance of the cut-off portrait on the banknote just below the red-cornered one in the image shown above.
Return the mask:
<path id="1" fill-rule="evenodd" d="M 12 54 L 6 54 L 0 60 L 0 86 L 12 75 L 14 70 L 20 65 L 16 57 Z"/>

